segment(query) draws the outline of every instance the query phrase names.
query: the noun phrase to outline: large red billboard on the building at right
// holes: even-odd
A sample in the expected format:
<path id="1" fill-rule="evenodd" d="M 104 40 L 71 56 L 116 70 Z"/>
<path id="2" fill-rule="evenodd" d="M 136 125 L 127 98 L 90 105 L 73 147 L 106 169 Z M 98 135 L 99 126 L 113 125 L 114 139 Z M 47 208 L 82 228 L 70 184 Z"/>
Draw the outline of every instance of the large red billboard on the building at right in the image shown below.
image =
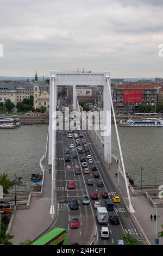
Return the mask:
<path id="1" fill-rule="evenodd" d="M 142 90 L 124 90 L 124 103 L 142 103 Z"/>

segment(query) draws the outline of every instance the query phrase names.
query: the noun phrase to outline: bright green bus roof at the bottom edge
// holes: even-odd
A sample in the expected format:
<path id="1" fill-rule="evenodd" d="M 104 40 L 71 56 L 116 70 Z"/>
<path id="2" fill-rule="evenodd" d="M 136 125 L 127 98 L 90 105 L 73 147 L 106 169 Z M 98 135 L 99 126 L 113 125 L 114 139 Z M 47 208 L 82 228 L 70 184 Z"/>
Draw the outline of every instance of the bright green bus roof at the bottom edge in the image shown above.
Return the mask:
<path id="1" fill-rule="evenodd" d="M 67 231 L 64 228 L 54 228 L 36 239 L 32 245 L 66 245 Z"/>

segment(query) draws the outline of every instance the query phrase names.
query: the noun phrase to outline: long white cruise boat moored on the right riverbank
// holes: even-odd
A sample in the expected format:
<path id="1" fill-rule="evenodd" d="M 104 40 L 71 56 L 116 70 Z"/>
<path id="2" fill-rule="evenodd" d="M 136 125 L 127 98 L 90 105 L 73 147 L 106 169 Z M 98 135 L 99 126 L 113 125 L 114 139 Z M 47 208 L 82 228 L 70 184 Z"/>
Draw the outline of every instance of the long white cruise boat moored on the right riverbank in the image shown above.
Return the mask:
<path id="1" fill-rule="evenodd" d="M 132 127 L 163 127 L 162 118 L 142 118 L 134 120 L 132 117 L 127 120 L 126 123 L 120 121 L 121 126 L 132 126 Z"/>

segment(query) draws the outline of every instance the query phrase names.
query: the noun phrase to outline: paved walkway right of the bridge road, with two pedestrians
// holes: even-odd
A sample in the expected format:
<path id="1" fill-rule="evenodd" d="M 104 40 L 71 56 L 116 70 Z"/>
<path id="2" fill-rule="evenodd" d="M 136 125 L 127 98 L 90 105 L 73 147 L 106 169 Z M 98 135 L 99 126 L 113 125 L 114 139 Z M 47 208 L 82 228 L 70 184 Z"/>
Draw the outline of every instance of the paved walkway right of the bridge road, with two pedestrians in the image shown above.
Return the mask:
<path id="1" fill-rule="evenodd" d="M 118 175 L 116 176 L 117 167 L 118 166 L 116 161 L 112 160 L 112 164 L 109 165 L 108 170 L 108 174 L 110 175 L 110 178 L 112 182 L 114 182 L 116 188 L 118 188 Z M 121 174 L 120 189 L 124 199 L 128 204 L 126 185 Z M 154 245 L 154 239 L 156 238 L 156 221 L 154 221 L 154 218 L 153 221 L 151 221 L 150 216 L 151 214 L 153 216 L 156 215 L 156 208 L 153 208 L 153 206 L 148 202 L 148 200 L 144 196 L 134 196 L 130 189 L 129 192 L 131 197 L 131 204 L 133 205 L 133 208 L 135 210 L 134 216 L 136 217 L 136 220 L 139 222 L 141 228 L 147 235 L 147 238 L 151 245 Z M 161 224 L 163 224 L 163 208 L 158 208 L 158 232 L 162 231 Z M 161 238 L 159 242 L 160 245 L 163 245 L 163 238 Z"/>

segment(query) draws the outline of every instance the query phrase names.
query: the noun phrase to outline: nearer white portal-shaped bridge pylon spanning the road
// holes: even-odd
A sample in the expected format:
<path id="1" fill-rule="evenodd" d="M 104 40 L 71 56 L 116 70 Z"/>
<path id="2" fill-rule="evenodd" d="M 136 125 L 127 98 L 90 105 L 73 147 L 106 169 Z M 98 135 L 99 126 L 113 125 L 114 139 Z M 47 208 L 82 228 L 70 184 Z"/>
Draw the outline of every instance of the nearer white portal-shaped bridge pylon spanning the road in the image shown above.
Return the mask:
<path id="1" fill-rule="evenodd" d="M 50 71 L 50 96 L 49 96 L 49 154 L 48 164 L 54 164 L 55 160 L 55 133 L 54 117 L 56 117 L 57 107 L 57 86 L 73 87 L 73 110 L 76 111 L 76 86 L 103 86 L 103 105 L 104 105 L 104 127 L 109 132 L 104 132 L 104 161 L 111 163 L 111 102 L 107 77 L 110 80 L 110 71 L 104 72 L 57 72 Z M 54 88 L 53 88 L 54 87 Z M 109 129 L 108 129 L 109 127 Z M 53 129 L 55 131 L 53 131 Z M 55 165 L 54 165 L 55 169 Z M 53 170 L 55 172 L 55 170 Z M 53 177 L 53 179 L 55 179 Z"/>

